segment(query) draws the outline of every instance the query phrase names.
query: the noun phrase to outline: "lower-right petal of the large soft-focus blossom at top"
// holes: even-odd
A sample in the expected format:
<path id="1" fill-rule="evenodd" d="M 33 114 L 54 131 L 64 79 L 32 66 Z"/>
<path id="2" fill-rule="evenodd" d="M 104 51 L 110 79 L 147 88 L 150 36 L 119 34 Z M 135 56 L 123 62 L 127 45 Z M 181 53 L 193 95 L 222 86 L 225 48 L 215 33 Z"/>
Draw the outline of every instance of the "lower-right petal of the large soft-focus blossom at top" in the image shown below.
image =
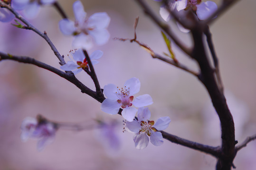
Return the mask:
<path id="1" fill-rule="evenodd" d="M 98 45 L 105 44 L 109 40 L 109 37 L 110 37 L 110 34 L 106 29 L 100 29 L 100 30 L 94 29 L 94 30 L 88 31 L 88 32 L 91 36 L 94 37 L 94 40 L 95 40 L 96 44 L 98 44 Z"/>

